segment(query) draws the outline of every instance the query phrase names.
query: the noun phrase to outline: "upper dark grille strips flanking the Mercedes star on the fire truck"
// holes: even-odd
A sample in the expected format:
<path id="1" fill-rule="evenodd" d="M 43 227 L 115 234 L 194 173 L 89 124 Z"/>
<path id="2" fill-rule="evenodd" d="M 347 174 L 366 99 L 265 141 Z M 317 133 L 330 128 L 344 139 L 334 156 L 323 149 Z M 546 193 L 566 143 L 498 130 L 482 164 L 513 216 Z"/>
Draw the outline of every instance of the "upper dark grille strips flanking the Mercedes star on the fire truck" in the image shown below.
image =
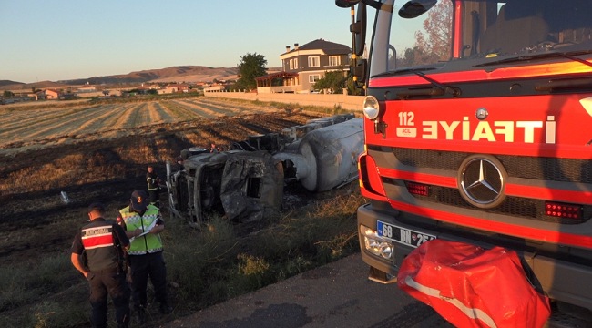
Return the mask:
<path id="1" fill-rule="evenodd" d="M 394 156 L 412 168 L 458 170 L 471 155 L 464 152 L 393 148 Z M 592 160 L 496 155 L 510 177 L 592 183 Z"/>

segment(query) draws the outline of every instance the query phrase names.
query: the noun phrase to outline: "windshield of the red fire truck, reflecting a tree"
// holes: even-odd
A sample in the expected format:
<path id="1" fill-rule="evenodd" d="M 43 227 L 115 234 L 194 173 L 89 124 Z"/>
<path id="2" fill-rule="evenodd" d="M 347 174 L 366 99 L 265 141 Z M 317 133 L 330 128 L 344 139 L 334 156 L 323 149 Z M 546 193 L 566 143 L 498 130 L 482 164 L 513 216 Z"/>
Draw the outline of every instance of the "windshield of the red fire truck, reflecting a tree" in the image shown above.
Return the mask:
<path id="1" fill-rule="evenodd" d="M 556 60 L 561 56 L 539 55 L 592 49 L 591 0 L 439 0 L 410 15 L 408 8 L 419 2 L 382 1 L 370 77 L 446 70 L 451 62 L 449 69 L 457 70 L 507 63 L 505 58 Z"/>

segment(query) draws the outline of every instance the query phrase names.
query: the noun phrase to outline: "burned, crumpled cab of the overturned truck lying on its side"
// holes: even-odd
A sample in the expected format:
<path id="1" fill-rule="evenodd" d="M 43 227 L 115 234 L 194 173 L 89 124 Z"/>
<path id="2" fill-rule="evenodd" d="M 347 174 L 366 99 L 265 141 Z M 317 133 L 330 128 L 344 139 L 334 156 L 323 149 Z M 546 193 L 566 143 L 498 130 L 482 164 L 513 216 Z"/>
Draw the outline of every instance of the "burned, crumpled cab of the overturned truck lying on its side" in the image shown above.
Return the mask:
<path id="1" fill-rule="evenodd" d="M 258 220 L 281 206 L 281 162 L 267 151 L 229 150 L 185 159 L 182 169 L 167 172 L 171 211 L 200 223 L 208 212 L 230 220 Z"/>

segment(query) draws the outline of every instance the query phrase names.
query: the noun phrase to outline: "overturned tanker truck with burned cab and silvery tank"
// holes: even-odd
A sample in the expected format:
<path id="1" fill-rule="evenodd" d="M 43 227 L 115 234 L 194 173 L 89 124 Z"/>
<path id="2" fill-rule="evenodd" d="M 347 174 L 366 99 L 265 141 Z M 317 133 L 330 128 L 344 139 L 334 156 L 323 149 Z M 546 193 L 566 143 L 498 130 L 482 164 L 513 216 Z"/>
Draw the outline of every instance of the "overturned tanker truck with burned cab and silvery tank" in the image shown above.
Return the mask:
<path id="1" fill-rule="evenodd" d="M 281 210 L 288 183 L 321 192 L 357 179 L 362 151 L 362 118 L 353 114 L 250 136 L 227 151 L 184 149 L 180 169 L 167 164 L 168 204 L 173 215 L 192 225 L 199 226 L 209 213 L 260 220 Z"/>

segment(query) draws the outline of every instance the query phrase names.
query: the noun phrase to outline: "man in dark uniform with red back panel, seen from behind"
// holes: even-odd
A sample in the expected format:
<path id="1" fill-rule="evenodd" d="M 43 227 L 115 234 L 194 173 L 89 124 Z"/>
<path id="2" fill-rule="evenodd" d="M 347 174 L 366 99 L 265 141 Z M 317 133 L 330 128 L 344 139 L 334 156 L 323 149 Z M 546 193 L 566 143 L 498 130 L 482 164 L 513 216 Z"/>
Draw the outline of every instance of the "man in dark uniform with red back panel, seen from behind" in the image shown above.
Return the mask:
<path id="1" fill-rule="evenodd" d="M 108 294 L 115 306 L 117 327 L 128 327 L 130 292 L 123 256 L 129 248 L 129 239 L 120 226 L 105 220 L 104 215 L 105 207 L 101 203 L 88 207 L 90 223 L 77 231 L 70 261 L 90 284 L 92 326 L 107 327 Z"/>

